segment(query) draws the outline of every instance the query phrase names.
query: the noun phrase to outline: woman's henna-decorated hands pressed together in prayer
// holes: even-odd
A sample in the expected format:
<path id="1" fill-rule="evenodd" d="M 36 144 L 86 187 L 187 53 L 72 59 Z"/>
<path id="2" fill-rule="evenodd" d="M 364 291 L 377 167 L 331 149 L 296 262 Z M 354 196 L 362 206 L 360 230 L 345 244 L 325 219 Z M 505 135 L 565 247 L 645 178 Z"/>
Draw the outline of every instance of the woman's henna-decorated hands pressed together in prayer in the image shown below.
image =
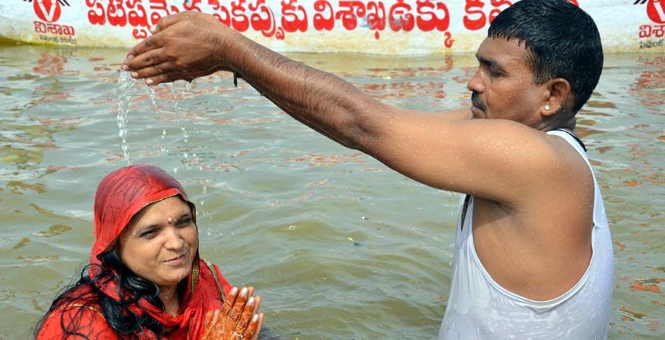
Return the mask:
<path id="1" fill-rule="evenodd" d="M 202 340 L 258 339 L 263 313 L 256 313 L 261 297 L 254 297 L 253 292 L 252 287 L 233 288 L 222 309 L 208 312 Z"/>

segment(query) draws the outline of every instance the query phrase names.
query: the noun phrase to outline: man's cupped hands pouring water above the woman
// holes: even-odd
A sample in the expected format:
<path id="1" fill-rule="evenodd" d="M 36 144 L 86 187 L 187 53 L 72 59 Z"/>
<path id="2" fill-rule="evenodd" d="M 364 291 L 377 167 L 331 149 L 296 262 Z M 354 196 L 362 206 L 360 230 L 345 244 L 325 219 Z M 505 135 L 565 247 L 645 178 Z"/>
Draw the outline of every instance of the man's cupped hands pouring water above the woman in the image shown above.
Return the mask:
<path id="1" fill-rule="evenodd" d="M 122 68 L 146 85 L 193 80 L 216 71 L 231 71 L 231 45 L 245 39 L 213 15 L 182 12 L 163 17 L 152 36 L 127 54 Z"/>

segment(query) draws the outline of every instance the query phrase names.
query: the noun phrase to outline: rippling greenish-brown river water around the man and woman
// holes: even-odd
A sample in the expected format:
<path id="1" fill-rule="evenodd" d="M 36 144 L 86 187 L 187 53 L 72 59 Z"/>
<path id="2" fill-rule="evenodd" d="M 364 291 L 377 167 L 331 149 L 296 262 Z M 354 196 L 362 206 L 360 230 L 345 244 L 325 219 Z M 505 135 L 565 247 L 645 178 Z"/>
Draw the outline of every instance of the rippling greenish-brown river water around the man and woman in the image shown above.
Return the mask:
<path id="1" fill-rule="evenodd" d="M 127 165 L 116 120 L 125 52 L 0 46 L 0 339 L 27 339 L 87 262 L 94 190 Z M 472 55 L 290 57 L 426 111 L 468 105 L 476 66 Z M 578 115 L 615 242 L 612 339 L 665 337 L 664 68 L 659 55 L 606 56 Z M 256 287 L 273 334 L 436 336 L 457 194 L 338 146 L 229 74 L 152 90 L 154 105 L 141 82 L 130 90 L 132 163 L 183 183 L 202 256 Z"/>

